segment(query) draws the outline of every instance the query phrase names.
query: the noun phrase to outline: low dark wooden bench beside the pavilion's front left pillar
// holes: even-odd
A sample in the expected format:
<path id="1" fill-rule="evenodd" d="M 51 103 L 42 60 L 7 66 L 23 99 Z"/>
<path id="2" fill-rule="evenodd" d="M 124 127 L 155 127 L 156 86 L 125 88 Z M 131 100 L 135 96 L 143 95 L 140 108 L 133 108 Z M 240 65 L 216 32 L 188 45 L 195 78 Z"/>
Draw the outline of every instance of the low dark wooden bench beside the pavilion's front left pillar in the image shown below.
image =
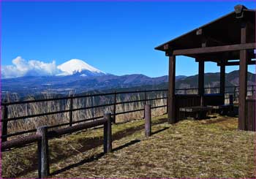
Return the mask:
<path id="1" fill-rule="evenodd" d="M 207 112 L 212 110 L 212 107 L 206 106 L 193 106 L 193 107 L 180 107 L 181 113 L 187 113 L 186 117 L 193 117 L 196 119 L 206 118 Z"/>

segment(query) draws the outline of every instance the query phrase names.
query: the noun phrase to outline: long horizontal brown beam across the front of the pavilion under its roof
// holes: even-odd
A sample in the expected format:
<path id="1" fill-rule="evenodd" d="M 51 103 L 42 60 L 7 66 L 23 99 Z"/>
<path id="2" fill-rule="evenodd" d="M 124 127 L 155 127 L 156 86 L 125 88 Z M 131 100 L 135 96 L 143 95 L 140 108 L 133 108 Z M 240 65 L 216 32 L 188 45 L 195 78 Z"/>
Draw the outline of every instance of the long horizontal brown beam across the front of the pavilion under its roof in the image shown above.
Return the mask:
<path id="1" fill-rule="evenodd" d="M 216 46 L 216 47 L 200 47 L 200 48 L 173 50 L 173 56 L 193 55 L 193 54 L 200 54 L 200 53 L 219 53 L 219 52 L 236 51 L 236 50 L 248 50 L 248 49 L 255 49 L 255 48 L 256 48 L 255 43 L 223 45 L 223 46 Z"/>

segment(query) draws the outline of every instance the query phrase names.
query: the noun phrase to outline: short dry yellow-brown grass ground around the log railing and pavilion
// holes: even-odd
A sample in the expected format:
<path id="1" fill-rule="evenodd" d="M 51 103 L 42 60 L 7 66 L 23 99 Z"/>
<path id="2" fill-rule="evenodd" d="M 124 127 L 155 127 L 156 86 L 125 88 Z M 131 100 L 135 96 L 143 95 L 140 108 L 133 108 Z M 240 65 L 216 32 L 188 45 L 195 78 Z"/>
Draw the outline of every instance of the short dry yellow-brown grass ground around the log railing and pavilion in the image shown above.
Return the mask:
<path id="1" fill-rule="evenodd" d="M 238 131 L 237 118 L 217 116 L 175 125 L 159 119 L 154 118 L 154 134 L 148 138 L 143 120 L 113 126 L 114 151 L 106 155 L 102 129 L 50 140 L 50 177 L 255 178 L 255 133 Z M 36 178 L 35 155 L 33 146 L 3 153 L 4 177 Z M 35 168 L 29 170 L 31 165 Z"/>

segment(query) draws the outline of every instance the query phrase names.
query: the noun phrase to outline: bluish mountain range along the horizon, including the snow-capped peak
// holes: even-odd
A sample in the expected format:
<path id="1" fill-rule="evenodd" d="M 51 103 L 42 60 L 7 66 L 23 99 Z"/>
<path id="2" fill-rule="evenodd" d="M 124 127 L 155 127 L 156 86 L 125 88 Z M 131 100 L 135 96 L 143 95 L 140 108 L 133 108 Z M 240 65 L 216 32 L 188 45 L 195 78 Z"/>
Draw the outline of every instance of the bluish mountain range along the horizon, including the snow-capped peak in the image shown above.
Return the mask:
<path id="1" fill-rule="evenodd" d="M 51 76 L 24 76 L 1 79 L 1 94 L 28 96 L 40 93 L 67 94 L 69 91 L 104 91 L 118 88 L 167 88 L 168 76 L 147 77 L 146 75 L 111 75 L 72 59 L 57 66 L 60 72 Z M 238 71 L 226 74 L 226 85 L 238 85 Z M 177 76 L 176 88 L 197 88 L 197 75 Z M 248 72 L 248 85 L 255 85 L 255 74 Z M 219 86 L 219 73 L 206 73 L 205 86 Z"/>

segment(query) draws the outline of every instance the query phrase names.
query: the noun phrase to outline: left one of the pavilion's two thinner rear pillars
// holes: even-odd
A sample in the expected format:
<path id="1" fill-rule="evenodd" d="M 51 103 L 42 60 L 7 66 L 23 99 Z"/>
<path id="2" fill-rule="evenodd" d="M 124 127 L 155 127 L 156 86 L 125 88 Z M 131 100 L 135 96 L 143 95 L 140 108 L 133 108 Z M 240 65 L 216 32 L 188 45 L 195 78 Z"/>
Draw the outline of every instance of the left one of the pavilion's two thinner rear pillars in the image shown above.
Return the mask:
<path id="1" fill-rule="evenodd" d="M 204 68 L 205 64 L 203 60 L 198 61 L 198 94 L 200 96 L 200 104 L 203 106 L 203 94 L 204 94 Z"/>

